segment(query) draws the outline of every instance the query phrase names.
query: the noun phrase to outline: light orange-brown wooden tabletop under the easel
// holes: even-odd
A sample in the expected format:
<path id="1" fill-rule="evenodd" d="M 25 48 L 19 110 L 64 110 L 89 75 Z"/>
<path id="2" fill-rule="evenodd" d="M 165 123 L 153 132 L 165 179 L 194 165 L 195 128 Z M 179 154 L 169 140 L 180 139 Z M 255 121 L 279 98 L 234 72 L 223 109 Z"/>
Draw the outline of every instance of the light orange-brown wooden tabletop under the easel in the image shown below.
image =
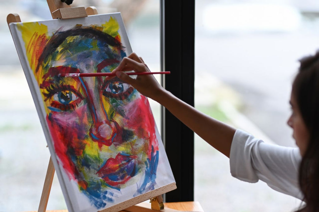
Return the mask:
<path id="1" fill-rule="evenodd" d="M 166 202 L 164 203 L 165 208 L 171 208 L 175 210 L 182 210 L 182 211 L 198 211 L 204 212 L 202 206 L 199 202 L 191 201 L 191 202 Z M 29 211 L 29 212 L 37 212 L 37 211 Z M 47 210 L 47 212 L 68 212 L 68 210 Z M 120 212 L 125 212 L 121 210 Z"/>

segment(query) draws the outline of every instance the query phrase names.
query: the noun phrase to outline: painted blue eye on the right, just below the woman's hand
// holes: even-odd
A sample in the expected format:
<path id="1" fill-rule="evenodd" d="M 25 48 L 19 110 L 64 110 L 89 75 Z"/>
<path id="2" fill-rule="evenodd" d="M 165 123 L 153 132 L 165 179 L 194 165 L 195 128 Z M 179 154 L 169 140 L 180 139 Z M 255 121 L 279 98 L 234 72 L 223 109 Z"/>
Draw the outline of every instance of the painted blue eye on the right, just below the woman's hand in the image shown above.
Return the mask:
<path id="1" fill-rule="evenodd" d="M 134 91 L 134 88 L 121 81 L 109 82 L 103 89 L 103 95 L 108 98 L 123 100 Z"/>

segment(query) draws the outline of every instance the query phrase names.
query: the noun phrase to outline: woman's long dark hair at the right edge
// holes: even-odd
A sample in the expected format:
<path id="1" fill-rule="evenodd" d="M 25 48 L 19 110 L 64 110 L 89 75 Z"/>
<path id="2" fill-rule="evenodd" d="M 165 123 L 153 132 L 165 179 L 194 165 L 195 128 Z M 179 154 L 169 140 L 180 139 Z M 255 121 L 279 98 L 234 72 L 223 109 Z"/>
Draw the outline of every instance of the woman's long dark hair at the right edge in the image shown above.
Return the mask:
<path id="1" fill-rule="evenodd" d="M 299 211 L 319 211 L 319 52 L 300 60 L 292 94 L 297 100 L 309 141 L 299 168 L 299 184 L 306 205 Z"/>

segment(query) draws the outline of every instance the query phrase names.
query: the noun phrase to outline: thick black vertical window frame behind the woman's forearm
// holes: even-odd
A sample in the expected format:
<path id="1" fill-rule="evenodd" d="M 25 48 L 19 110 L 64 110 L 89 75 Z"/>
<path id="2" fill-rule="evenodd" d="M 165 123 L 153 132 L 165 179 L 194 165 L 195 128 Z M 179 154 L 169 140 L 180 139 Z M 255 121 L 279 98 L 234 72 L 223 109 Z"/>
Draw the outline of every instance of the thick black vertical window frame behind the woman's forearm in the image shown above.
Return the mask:
<path id="1" fill-rule="evenodd" d="M 194 106 L 195 0 L 160 1 L 162 86 Z M 177 189 L 166 202 L 194 201 L 194 132 L 167 109 L 161 109 L 162 139 Z M 185 114 L 186 115 L 186 114 Z"/>

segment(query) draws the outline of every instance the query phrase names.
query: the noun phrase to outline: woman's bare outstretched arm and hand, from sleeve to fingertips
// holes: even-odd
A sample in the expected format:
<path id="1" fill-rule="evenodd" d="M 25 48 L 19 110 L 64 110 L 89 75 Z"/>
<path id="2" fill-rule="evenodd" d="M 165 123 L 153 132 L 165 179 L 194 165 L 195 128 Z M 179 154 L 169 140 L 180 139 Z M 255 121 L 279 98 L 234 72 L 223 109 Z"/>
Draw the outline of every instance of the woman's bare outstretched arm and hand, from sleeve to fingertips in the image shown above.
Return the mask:
<path id="1" fill-rule="evenodd" d="M 162 88 L 152 75 L 138 75 L 132 79 L 123 71 L 149 72 L 147 65 L 135 53 L 125 57 L 113 72 L 121 80 L 131 84 L 141 94 L 159 102 L 182 123 L 203 138 L 219 152 L 229 157 L 230 147 L 235 129 L 183 102 L 173 94 Z M 108 80 L 108 77 L 106 80 Z"/>

